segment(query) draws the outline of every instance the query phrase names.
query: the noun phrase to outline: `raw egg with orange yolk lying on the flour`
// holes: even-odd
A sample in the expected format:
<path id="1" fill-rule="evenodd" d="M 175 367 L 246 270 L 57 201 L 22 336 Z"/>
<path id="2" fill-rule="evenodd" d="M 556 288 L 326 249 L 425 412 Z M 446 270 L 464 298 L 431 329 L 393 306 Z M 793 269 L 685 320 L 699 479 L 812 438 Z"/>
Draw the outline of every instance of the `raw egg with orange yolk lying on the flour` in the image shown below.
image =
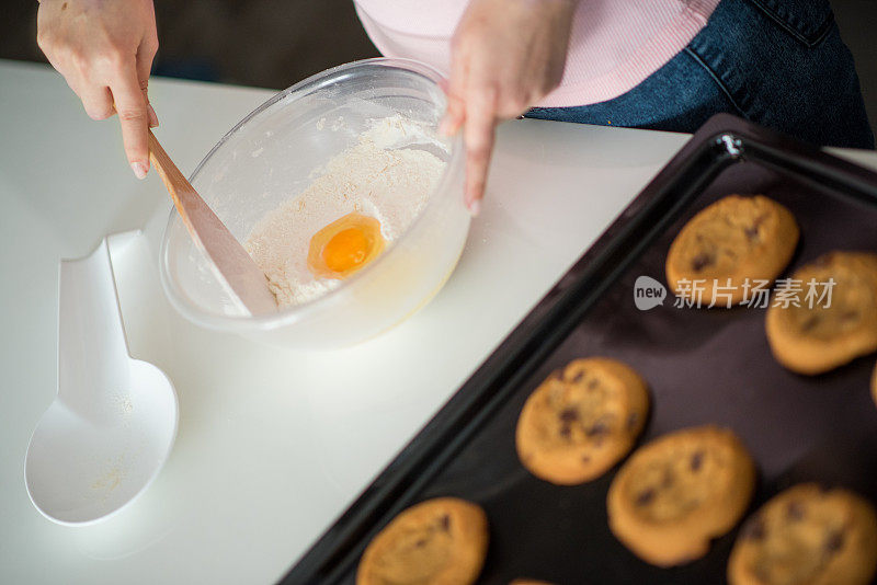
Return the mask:
<path id="1" fill-rule="evenodd" d="M 354 211 L 314 234 L 308 268 L 317 277 L 346 278 L 372 262 L 381 250 L 380 222 Z"/>

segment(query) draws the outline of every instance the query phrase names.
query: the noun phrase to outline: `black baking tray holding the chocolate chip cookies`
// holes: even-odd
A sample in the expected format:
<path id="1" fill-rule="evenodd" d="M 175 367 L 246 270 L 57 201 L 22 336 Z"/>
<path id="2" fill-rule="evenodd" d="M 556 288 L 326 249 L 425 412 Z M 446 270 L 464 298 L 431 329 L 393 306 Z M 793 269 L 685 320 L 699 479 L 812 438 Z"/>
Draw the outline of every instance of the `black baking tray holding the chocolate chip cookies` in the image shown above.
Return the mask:
<path id="1" fill-rule="evenodd" d="M 500 347 L 286 574 L 282 583 L 353 583 L 375 534 L 435 496 L 480 504 L 490 547 L 479 583 L 724 583 L 736 530 L 674 569 L 651 566 L 610 532 L 605 498 L 617 470 L 556 486 L 519 462 L 514 428 L 527 395 L 583 356 L 614 357 L 649 382 L 640 443 L 715 423 L 743 439 L 759 468 L 753 508 L 793 483 L 844 485 L 877 502 L 875 356 L 818 377 L 783 369 L 764 309 L 640 311 L 634 283 L 665 284 L 681 226 L 728 194 L 788 207 L 801 239 L 786 274 L 835 249 L 877 251 L 877 174 L 729 115 L 711 118 L 555 285 Z"/>

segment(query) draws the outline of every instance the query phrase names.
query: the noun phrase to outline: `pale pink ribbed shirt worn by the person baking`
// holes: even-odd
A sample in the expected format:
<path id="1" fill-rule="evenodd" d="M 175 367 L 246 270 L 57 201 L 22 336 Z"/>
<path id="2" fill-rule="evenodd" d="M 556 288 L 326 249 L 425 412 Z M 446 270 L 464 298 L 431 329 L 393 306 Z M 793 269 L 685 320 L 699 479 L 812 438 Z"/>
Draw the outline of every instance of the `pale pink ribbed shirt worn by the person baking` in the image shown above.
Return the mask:
<path id="1" fill-rule="evenodd" d="M 372 42 L 447 74 L 451 37 L 469 0 L 354 0 Z M 560 87 L 538 105 L 617 97 L 682 50 L 719 0 L 579 0 Z"/>

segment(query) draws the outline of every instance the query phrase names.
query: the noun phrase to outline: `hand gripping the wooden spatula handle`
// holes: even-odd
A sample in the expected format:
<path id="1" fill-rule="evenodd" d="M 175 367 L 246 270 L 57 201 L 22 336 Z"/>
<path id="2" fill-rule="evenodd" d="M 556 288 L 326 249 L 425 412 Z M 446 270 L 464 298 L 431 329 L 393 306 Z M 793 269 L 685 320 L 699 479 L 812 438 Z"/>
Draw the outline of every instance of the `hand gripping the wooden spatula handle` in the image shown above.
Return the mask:
<path id="1" fill-rule="evenodd" d="M 36 41 L 94 119 L 118 113 L 134 174 L 149 170 L 147 128 L 158 126 L 147 83 L 158 49 L 151 0 L 42 0 Z"/>

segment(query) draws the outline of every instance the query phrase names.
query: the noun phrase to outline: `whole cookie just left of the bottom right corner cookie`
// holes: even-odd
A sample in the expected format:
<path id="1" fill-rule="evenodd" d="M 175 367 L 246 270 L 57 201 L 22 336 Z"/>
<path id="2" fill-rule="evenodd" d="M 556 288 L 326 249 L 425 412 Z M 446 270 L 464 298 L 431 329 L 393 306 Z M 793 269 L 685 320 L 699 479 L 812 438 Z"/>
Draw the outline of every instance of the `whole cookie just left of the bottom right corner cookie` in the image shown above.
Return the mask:
<path id="1" fill-rule="evenodd" d="M 711 425 L 676 431 L 640 447 L 610 486 L 610 528 L 646 562 L 699 559 L 749 506 L 755 466 L 740 439 Z"/>

